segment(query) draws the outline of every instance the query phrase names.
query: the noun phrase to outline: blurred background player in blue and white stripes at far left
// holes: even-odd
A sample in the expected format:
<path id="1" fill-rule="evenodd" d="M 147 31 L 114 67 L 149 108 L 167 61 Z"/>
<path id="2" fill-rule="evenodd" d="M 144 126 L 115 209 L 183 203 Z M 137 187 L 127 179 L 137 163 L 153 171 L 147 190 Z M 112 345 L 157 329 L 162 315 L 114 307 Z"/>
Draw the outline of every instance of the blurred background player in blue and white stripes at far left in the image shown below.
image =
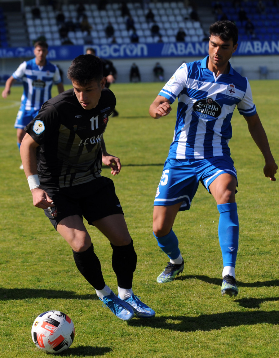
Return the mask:
<path id="1" fill-rule="evenodd" d="M 18 147 L 25 135 L 24 127 L 38 114 L 43 103 L 51 98 L 53 83 L 57 85 L 58 93 L 64 91 L 64 86 L 57 66 L 46 59 L 48 44 L 38 41 L 34 44 L 35 57 L 24 61 L 6 81 L 2 97 L 10 94 L 15 81 L 23 81 L 21 106 L 16 116 L 15 128 Z M 20 166 L 23 169 L 23 166 Z"/>

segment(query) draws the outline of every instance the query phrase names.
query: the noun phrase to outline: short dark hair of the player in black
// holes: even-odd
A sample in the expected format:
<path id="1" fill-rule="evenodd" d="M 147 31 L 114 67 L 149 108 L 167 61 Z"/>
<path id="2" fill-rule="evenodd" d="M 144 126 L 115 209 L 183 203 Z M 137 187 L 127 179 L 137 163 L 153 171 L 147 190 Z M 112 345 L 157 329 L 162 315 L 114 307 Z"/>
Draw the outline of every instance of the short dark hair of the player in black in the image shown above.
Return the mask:
<path id="1" fill-rule="evenodd" d="M 79 55 L 68 68 L 67 77 L 72 82 L 86 86 L 91 81 L 101 81 L 103 64 L 101 58 L 94 55 Z"/>

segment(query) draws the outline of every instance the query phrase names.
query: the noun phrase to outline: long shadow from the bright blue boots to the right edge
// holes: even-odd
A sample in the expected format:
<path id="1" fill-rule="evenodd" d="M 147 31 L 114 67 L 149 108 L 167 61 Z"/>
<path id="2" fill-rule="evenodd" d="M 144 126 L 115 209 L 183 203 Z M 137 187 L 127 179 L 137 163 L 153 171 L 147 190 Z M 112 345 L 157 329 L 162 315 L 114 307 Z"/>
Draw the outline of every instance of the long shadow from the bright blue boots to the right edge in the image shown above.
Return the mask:
<path id="1" fill-rule="evenodd" d="M 223 327 L 237 327 L 268 323 L 277 325 L 278 311 L 225 312 L 197 317 L 162 316 L 150 319 L 132 319 L 128 322 L 133 327 L 151 327 L 180 332 L 211 331 Z"/>

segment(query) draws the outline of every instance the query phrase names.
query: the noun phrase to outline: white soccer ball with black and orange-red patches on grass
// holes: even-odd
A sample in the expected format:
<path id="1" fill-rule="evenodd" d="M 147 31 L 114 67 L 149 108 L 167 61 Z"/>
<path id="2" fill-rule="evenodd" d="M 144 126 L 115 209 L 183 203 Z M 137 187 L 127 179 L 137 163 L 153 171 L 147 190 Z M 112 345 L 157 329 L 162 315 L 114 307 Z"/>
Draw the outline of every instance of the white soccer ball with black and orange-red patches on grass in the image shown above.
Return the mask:
<path id="1" fill-rule="evenodd" d="M 73 343 L 75 327 L 67 314 L 48 311 L 40 314 L 31 329 L 36 347 L 46 353 L 60 353 Z"/>

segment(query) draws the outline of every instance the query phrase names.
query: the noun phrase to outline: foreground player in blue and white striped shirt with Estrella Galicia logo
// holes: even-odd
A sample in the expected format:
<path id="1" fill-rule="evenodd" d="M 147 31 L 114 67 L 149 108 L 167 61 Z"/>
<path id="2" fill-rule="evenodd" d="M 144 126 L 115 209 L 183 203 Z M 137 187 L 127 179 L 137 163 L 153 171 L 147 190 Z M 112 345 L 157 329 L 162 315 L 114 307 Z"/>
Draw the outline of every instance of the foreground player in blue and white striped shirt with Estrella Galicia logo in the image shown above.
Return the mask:
<path id="1" fill-rule="evenodd" d="M 237 27 L 231 21 L 217 21 L 210 26 L 209 34 L 209 55 L 200 61 L 183 63 L 149 110 L 153 118 L 166 116 L 178 97 L 175 133 L 154 201 L 153 234 L 170 258 L 157 282 L 172 281 L 183 271 L 184 261 L 172 226 L 178 211 L 190 209 L 201 181 L 216 200 L 220 213 L 218 234 L 224 265 L 221 293 L 236 296 L 238 182 L 228 146 L 236 106 L 264 156 L 264 175 L 275 181 L 278 166 L 256 112 L 248 79 L 229 63 L 238 47 Z"/>

